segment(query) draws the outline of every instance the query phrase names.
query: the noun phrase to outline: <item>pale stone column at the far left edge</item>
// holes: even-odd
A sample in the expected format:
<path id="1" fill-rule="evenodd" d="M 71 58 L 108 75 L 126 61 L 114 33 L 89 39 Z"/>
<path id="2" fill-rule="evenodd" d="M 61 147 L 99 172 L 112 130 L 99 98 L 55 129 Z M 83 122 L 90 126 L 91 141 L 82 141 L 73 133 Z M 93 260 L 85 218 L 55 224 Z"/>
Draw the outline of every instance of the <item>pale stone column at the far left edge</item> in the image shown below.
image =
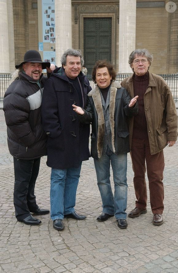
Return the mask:
<path id="1" fill-rule="evenodd" d="M 0 33 L 0 73 L 11 73 L 15 69 L 12 0 L 0 0 Z"/>

